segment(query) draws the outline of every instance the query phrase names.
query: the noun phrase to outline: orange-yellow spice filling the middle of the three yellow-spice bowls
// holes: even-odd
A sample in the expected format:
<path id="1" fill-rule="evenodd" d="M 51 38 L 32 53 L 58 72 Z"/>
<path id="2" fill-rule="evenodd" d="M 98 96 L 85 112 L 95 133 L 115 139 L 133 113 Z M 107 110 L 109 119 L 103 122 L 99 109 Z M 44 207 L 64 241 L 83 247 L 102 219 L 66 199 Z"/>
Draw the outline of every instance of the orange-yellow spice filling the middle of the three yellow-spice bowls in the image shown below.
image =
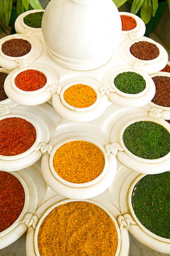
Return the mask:
<path id="1" fill-rule="evenodd" d="M 53 167 L 65 181 L 86 183 L 96 179 L 105 166 L 102 150 L 83 140 L 73 140 L 56 149 Z"/>

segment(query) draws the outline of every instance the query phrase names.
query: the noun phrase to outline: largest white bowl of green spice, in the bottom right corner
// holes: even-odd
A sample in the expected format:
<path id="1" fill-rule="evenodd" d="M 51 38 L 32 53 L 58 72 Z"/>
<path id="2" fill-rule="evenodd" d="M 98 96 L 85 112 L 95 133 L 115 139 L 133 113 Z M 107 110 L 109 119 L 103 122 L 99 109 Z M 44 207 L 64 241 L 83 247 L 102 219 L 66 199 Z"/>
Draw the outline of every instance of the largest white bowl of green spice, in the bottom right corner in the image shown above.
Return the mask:
<path id="1" fill-rule="evenodd" d="M 152 250 L 169 254 L 170 172 L 139 174 L 123 167 L 119 179 L 120 212 L 129 219 L 129 232 Z"/>

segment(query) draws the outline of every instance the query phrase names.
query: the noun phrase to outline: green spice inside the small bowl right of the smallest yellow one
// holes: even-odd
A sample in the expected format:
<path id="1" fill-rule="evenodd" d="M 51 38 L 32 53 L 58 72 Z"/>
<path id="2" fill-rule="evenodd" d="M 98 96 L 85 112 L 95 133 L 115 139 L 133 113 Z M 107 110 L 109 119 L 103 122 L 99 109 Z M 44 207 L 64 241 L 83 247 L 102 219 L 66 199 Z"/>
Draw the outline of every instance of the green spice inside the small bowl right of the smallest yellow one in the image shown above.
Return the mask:
<path id="1" fill-rule="evenodd" d="M 140 93 L 146 87 L 146 81 L 142 75 L 130 71 L 118 74 L 114 78 L 114 84 L 123 93 L 131 94 Z"/>

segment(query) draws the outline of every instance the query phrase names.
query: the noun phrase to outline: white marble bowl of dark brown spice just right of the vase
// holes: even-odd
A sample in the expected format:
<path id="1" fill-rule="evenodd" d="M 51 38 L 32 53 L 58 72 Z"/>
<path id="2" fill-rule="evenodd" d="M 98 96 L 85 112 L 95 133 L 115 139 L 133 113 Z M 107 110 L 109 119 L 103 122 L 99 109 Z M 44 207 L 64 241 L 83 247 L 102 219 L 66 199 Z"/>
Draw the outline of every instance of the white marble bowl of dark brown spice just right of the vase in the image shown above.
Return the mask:
<path id="1" fill-rule="evenodd" d="M 168 62 L 165 48 L 148 37 L 125 39 L 119 46 L 119 55 L 131 66 L 142 68 L 148 74 L 160 71 Z"/>

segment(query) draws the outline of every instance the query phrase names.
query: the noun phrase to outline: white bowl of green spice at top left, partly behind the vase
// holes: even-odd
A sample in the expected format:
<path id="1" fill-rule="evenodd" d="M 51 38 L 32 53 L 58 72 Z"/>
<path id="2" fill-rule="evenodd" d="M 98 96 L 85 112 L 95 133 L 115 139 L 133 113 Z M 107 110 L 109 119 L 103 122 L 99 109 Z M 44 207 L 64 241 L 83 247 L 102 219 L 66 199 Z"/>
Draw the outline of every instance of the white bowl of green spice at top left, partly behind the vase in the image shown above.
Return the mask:
<path id="1" fill-rule="evenodd" d="M 15 21 L 14 28 L 19 34 L 31 33 L 34 36 L 41 36 L 41 21 L 44 10 L 28 10 L 19 15 Z"/>

